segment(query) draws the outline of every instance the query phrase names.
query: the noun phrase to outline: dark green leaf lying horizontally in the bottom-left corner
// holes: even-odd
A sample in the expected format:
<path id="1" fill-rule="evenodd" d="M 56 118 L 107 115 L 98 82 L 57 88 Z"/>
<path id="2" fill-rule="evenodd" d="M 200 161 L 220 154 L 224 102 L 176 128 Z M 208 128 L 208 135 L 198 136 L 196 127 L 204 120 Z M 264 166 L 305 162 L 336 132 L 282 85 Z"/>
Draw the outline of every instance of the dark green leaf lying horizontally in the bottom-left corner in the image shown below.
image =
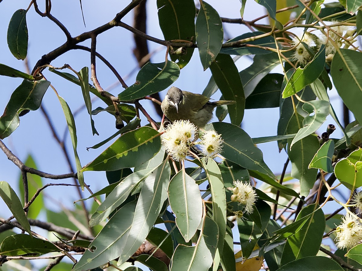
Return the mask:
<path id="1" fill-rule="evenodd" d="M 27 234 L 8 236 L 1 243 L 0 255 L 19 256 L 24 254 L 46 254 L 60 251 L 49 241 L 41 240 Z"/>

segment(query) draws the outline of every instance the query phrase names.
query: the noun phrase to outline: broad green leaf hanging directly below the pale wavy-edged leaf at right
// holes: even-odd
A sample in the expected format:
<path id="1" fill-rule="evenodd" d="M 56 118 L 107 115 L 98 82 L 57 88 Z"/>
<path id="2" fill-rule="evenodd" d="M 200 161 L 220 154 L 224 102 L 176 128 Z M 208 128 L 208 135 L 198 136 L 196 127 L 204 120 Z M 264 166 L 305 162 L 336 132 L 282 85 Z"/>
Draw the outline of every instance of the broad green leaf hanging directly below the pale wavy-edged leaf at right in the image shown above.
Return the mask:
<path id="1" fill-rule="evenodd" d="M 290 144 L 289 139 L 288 143 Z M 319 150 L 317 137 L 309 135 L 296 142 L 292 149 L 288 147 L 288 157 L 292 164 L 291 176 L 300 182 L 300 195 L 307 196 L 317 177 L 317 169 L 308 168 L 309 163 Z"/>

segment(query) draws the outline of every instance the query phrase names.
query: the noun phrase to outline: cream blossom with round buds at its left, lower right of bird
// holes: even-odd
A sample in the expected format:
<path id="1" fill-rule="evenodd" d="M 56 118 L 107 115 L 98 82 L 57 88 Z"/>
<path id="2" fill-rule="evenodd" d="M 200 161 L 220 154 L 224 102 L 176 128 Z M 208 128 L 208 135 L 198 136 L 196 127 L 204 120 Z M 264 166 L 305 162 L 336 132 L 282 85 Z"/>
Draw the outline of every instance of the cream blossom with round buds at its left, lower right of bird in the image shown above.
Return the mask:
<path id="1" fill-rule="evenodd" d="M 255 201 L 257 199 L 257 195 L 253 189 L 253 186 L 249 183 L 244 183 L 239 180 L 234 181 L 233 185 L 235 188 L 232 190 L 234 195 L 232 195 L 231 200 L 245 205 L 245 211 L 247 214 L 251 214 L 254 211 Z"/>

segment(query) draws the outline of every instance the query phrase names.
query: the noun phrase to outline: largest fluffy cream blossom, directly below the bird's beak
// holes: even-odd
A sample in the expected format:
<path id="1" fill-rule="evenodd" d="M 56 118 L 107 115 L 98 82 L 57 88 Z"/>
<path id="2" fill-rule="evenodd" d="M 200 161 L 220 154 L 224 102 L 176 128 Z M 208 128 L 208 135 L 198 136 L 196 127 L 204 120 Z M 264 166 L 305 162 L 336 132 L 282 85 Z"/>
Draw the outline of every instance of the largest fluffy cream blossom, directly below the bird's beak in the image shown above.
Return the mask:
<path id="1" fill-rule="evenodd" d="M 168 125 L 161 135 L 161 143 L 175 161 L 185 160 L 195 139 L 196 126 L 188 120 L 177 120 Z"/>

